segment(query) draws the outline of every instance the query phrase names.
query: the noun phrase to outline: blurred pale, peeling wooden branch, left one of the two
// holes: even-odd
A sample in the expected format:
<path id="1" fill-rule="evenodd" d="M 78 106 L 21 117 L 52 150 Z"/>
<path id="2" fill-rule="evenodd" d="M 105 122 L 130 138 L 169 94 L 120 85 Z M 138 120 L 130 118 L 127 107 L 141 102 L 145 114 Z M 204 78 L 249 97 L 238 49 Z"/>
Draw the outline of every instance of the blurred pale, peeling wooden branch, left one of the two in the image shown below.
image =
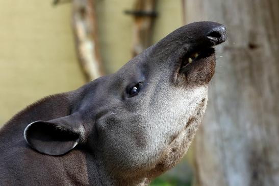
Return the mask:
<path id="1" fill-rule="evenodd" d="M 94 0 L 74 0 L 72 25 L 78 58 L 87 80 L 104 75 L 100 61 Z"/>

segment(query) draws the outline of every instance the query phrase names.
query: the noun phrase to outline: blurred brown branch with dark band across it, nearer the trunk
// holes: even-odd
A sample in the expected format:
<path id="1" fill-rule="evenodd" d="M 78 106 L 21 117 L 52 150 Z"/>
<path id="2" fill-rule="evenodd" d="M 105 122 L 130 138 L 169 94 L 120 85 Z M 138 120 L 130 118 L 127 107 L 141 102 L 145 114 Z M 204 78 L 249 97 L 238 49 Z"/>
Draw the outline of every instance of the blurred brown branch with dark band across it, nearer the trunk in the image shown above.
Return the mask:
<path id="1" fill-rule="evenodd" d="M 156 0 L 137 0 L 133 11 L 126 10 L 126 14 L 134 16 L 132 55 L 136 56 L 151 44 L 151 32 L 155 12 Z"/>

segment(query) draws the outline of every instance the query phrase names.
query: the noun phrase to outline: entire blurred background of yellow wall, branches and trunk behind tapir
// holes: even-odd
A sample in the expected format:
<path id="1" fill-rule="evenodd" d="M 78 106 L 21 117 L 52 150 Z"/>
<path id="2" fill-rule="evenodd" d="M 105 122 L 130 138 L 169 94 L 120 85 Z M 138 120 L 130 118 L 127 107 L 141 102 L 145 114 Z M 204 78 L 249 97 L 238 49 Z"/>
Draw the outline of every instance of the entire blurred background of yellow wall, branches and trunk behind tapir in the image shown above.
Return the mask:
<path id="1" fill-rule="evenodd" d="M 151 185 L 279 185 L 278 0 L 1 0 L 0 126 L 201 20 L 228 33 L 207 113 L 181 164 Z"/>

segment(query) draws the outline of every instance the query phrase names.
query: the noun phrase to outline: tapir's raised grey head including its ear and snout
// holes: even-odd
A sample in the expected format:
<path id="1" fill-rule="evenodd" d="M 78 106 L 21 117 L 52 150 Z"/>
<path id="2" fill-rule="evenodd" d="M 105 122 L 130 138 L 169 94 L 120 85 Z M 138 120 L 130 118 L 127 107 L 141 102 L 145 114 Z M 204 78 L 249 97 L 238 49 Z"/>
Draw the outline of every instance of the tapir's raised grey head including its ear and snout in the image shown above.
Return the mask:
<path id="1" fill-rule="evenodd" d="M 212 47 L 225 32 L 215 22 L 175 30 L 115 74 L 65 93 L 69 113 L 29 124 L 26 141 L 49 155 L 80 147 L 117 176 L 152 178 L 172 168 L 204 115 Z"/>

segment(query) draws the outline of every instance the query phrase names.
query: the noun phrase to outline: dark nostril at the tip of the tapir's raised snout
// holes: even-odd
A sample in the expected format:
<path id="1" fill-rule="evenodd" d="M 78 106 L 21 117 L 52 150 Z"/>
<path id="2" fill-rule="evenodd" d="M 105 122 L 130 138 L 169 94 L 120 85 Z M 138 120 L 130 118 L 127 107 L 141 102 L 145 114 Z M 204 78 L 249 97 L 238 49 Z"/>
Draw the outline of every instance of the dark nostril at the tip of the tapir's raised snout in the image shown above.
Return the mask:
<path id="1" fill-rule="evenodd" d="M 224 26 L 213 28 L 207 34 L 207 38 L 210 39 L 210 41 L 214 42 L 214 44 L 224 42 L 226 39 L 226 28 Z"/>

